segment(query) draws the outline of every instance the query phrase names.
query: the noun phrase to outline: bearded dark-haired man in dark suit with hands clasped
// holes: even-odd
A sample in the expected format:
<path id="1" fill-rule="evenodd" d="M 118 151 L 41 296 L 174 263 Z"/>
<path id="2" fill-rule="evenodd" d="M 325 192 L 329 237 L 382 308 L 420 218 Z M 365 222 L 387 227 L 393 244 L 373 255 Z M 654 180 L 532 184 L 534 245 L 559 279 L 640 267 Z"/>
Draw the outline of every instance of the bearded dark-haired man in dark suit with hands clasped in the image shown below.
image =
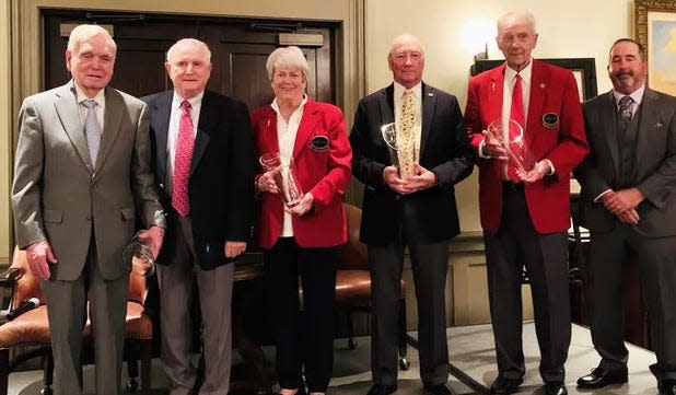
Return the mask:
<path id="1" fill-rule="evenodd" d="M 576 170 L 591 231 L 592 339 L 602 357 L 578 386 L 627 382 L 622 340 L 622 265 L 638 264 L 648 302 L 651 371 L 660 393 L 676 388 L 676 97 L 645 86 L 645 50 L 618 39 L 610 48 L 613 91 L 584 103 L 591 152 Z"/>

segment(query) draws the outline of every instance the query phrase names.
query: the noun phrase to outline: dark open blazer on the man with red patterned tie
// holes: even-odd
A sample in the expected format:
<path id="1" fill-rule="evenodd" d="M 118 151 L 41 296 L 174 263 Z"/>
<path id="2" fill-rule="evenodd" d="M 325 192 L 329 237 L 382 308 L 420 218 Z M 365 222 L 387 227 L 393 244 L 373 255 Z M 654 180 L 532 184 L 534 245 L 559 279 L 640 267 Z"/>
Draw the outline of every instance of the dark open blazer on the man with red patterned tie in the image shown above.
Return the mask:
<path id="1" fill-rule="evenodd" d="M 164 207 L 173 210 L 166 190 L 167 132 L 174 91 L 143 97 L 150 111 L 155 174 L 164 191 Z M 190 221 L 199 266 L 211 269 L 226 264 L 225 241 L 248 242 L 254 214 L 254 144 L 246 106 L 206 91 L 202 97 L 188 181 Z M 172 232 L 170 216 L 168 231 Z M 167 237 L 158 258 L 173 254 Z"/>

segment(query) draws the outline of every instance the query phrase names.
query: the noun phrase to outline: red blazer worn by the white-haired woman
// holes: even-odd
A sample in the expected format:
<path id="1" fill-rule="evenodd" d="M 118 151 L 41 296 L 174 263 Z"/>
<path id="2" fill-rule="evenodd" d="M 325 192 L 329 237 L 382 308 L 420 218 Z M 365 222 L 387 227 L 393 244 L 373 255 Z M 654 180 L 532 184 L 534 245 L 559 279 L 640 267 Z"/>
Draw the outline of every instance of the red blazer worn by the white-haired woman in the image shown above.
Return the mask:
<path id="1" fill-rule="evenodd" d="M 252 112 L 252 129 L 257 156 L 279 152 L 277 113 L 269 105 Z M 315 137 L 326 137 L 329 147 L 317 150 Z M 293 144 L 293 162 L 303 193 L 314 196 L 313 209 L 292 217 L 293 236 L 302 247 L 328 247 L 347 241 L 342 196 L 350 185 L 352 150 L 345 130 L 340 108 L 308 100 Z M 256 176 L 261 173 L 260 166 Z M 282 229 L 283 202 L 277 194 L 265 193 L 260 199 L 256 240 L 260 247 L 271 248 Z"/>

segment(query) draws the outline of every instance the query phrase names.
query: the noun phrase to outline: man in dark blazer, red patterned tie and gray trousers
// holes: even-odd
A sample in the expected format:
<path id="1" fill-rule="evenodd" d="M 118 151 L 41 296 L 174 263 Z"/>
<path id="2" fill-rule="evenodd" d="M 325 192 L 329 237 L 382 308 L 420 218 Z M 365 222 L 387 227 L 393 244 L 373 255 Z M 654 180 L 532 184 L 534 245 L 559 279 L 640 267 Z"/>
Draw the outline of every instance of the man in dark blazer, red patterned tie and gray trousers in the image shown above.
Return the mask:
<path id="1" fill-rule="evenodd" d="M 232 359 L 233 258 L 249 239 L 254 146 L 246 106 L 205 91 L 211 53 L 193 38 L 166 54 L 174 90 L 144 101 L 150 111 L 158 182 L 170 211 L 158 263 L 162 363 L 172 395 L 187 395 L 191 364 L 189 307 L 197 280 L 205 381 L 200 395 L 228 394 Z"/>

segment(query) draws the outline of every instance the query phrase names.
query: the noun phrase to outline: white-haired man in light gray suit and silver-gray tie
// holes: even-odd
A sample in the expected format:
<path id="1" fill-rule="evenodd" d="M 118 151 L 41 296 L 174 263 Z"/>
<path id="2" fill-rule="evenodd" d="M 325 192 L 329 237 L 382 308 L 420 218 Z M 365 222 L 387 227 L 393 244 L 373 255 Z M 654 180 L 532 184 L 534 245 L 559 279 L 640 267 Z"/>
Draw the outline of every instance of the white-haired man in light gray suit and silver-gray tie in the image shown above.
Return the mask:
<path id="1" fill-rule="evenodd" d="M 16 243 L 47 299 L 56 394 L 82 394 L 88 297 L 96 394 L 121 393 L 129 281 L 121 253 L 137 212 L 155 255 L 164 236 L 145 105 L 106 86 L 115 54 L 104 28 L 75 27 L 66 50 L 72 80 L 26 97 L 19 114 Z"/>

